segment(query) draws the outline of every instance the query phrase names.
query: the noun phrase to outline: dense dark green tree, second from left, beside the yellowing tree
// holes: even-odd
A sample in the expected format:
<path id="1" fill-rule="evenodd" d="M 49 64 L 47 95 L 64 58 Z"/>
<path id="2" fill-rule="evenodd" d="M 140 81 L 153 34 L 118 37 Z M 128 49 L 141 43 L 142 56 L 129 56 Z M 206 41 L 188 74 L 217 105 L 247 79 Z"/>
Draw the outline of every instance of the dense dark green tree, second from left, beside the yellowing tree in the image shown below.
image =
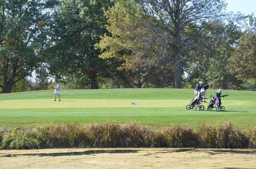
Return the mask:
<path id="1" fill-rule="evenodd" d="M 109 61 L 98 57 L 100 50 L 94 45 L 108 33 L 104 11 L 112 4 L 112 0 L 62 0 L 48 51 L 49 70 L 57 79 L 75 77 L 76 83 L 95 89 L 98 79 L 110 74 Z"/>

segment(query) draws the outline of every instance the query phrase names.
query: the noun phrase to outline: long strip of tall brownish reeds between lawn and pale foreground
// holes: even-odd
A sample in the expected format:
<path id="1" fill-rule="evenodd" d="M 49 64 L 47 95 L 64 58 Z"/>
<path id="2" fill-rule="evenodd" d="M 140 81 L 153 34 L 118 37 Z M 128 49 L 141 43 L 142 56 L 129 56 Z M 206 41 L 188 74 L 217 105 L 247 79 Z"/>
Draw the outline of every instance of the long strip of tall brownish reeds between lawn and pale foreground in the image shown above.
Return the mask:
<path id="1" fill-rule="evenodd" d="M 88 125 L 50 124 L 38 128 L 2 130 L 1 149 L 56 147 L 222 147 L 256 148 L 256 128 L 241 132 L 230 123 L 197 128 L 168 126 L 152 130 L 138 123 Z"/>

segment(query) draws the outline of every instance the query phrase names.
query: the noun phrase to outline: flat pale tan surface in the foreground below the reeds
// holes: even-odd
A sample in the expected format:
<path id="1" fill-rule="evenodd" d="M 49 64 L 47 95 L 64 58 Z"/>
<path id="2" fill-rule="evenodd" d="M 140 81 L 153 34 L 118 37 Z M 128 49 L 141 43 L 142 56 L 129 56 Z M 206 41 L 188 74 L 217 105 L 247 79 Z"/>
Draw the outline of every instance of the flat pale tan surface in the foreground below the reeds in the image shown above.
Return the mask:
<path id="1" fill-rule="evenodd" d="M 256 149 L 66 148 L 0 150 L 0 168 L 256 169 Z"/>

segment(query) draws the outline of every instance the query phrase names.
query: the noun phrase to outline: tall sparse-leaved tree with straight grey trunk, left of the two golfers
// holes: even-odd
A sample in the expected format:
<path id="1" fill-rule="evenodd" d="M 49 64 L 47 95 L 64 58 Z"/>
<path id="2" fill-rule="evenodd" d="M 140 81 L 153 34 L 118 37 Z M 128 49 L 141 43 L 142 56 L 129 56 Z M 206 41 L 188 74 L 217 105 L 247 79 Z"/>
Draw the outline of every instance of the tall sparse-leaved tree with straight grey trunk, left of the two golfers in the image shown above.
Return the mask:
<path id="1" fill-rule="evenodd" d="M 137 0 L 145 14 L 160 20 L 170 34 L 170 45 L 175 57 L 175 88 L 181 88 L 182 51 L 188 45 L 186 28 L 196 23 L 220 19 L 222 9 L 226 6 L 223 0 Z"/>

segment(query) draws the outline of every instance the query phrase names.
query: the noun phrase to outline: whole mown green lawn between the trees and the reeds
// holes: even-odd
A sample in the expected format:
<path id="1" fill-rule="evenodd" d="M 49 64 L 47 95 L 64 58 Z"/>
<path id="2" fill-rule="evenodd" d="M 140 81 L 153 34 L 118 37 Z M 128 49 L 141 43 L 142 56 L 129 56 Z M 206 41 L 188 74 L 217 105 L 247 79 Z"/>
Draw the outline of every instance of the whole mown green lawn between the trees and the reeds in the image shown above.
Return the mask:
<path id="1" fill-rule="evenodd" d="M 207 90 L 214 94 L 216 90 Z M 0 94 L 0 127 L 35 127 L 49 123 L 88 124 L 138 122 L 153 128 L 170 124 L 195 127 L 198 123 L 232 122 L 241 129 L 256 126 L 256 92 L 223 90 L 225 112 L 186 110 L 193 89 L 53 90 Z M 137 105 L 131 105 L 136 102 Z M 207 107 L 207 103 L 204 103 Z"/>

